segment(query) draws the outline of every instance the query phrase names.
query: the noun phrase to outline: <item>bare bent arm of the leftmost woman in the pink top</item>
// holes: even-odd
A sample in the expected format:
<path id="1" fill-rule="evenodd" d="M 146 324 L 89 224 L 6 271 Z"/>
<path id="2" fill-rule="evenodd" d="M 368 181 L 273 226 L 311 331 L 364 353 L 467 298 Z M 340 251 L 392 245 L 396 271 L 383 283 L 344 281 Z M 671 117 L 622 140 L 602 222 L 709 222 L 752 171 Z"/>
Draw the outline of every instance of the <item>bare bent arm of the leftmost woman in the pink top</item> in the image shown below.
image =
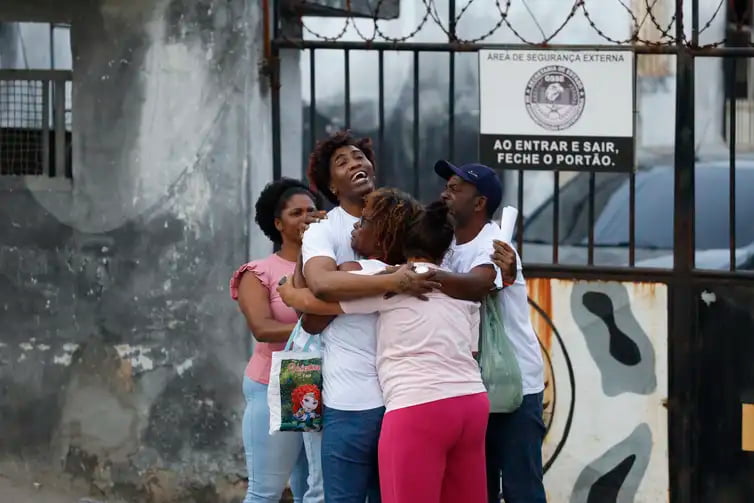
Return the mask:
<path id="1" fill-rule="evenodd" d="M 272 317 L 270 293 L 253 274 L 244 274 L 238 286 L 238 307 L 246 325 L 259 342 L 285 342 L 295 327 Z"/>

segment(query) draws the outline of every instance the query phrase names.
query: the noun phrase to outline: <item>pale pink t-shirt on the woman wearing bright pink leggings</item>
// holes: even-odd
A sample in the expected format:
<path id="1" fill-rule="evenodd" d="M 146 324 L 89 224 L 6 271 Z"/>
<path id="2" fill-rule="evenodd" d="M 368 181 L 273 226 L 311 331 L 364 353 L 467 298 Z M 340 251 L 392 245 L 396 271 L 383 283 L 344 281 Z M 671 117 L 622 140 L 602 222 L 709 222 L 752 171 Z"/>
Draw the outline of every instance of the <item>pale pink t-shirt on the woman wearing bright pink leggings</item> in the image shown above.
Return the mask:
<path id="1" fill-rule="evenodd" d="M 472 355 L 479 338 L 479 304 L 440 292 L 427 297 L 340 303 L 347 314 L 380 313 L 377 374 L 388 411 L 485 391 Z"/>

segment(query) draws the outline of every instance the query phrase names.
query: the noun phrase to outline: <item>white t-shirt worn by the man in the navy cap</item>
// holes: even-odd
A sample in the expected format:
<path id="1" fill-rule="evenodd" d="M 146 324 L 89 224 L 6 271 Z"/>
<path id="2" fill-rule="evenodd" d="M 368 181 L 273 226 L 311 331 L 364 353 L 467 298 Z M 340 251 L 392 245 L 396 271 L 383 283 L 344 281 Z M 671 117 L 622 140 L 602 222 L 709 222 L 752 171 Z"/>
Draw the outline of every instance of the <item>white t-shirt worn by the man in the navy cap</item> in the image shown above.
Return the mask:
<path id="1" fill-rule="evenodd" d="M 457 245 L 455 239 L 450 245 L 443 267 L 456 273 L 467 273 L 473 268 L 493 264 L 492 255 L 494 247 L 492 241 L 498 239 L 500 227 L 490 222 L 485 225 L 477 236 L 462 245 Z M 516 264 L 518 273 L 513 285 L 505 287 L 498 295 L 500 310 L 503 315 L 505 333 L 516 353 L 518 365 L 521 368 L 521 379 L 524 395 L 539 393 L 545 389 L 544 363 L 539 340 L 534 332 L 529 316 L 529 301 L 526 292 L 526 281 L 521 266 L 521 257 L 516 252 Z M 495 267 L 497 276 L 495 286 L 502 288 L 503 279 L 500 270 Z"/>

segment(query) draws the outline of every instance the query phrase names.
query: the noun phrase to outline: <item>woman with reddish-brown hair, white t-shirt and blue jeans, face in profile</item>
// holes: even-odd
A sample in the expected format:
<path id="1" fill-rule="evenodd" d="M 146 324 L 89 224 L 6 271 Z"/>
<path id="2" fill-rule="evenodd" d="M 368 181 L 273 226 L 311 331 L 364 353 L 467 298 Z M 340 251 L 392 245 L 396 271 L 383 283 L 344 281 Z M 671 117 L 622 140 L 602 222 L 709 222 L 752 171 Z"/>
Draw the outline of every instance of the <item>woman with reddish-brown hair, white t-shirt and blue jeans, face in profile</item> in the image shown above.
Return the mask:
<path id="1" fill-rule="evenodd" d="M 364 209 L 361 218 L 354 224 L 351 231 L 351 247 L 361 260 L 348 261 L 340 264 L 338 270 L 364 277 L 372 275 L 385 268 L 385 263 L 399 264 L 405 262 L 403 255 L 403 239 L 408 231 L 410 222 L 421 213 L 421 205 L 405 192 L 397 189 L 383 188 L 369 193 L 364 198 Z M 315 224 L 319 225 L 319 224 Z M 368 232 L 360 232 L 369 230 Z M 302 289 L 304 290 L 304 289 Z M 306 290 L 308 291 L 308 290 Z M 281 295 L 283 301 L 285 296 Z M 307 312 L 305 309 L 302 312 Z M 323 324 L 329 323 L 334 317 L 329 317 Z M 374 379 L 377 387 L 377 399 L 382 403 L 382 392 L 377 382 L 375 366 L 377 315 L 356 314 L 338 316 L 336 320 L 341 326 L 359 326 L 360 331 L 345 330 L 329 332 L 329 339 L 325 338 L 325 355 L 322 362 L 323 375 L 330 376 L 326 381 L 324 398 L 328 400 L 328 392 L 333 391 L 333 398 L 343 400 L 350 396 L 339 387 L 342 380 L 338 375 L 342 371 L 343 363 L 350 366 L 357 380 L 354 384 L 366 388 L 366 383 Z M 327 332 L 325 334 L 328 334 Z M 325 335 L 323 334 L 323 335 Z M 334 337 L 337 336 L 333 342 Z M 348 340 L 353 340 L 360 349 L 368 348 L 368 358 L 359 364 L 353 360 L 345 360 L 333 348 L 344 346 Z M 328 349 L 331 351 L 328 353 Z M 340 367 L 340 368 L 339 368 Z M 332 383 L 335 383 L 335 386 Z M 336 402 L 338 403 L 338 402 Z M 340 402 L 342 403 L 342 402 Z M 343 407 L 342 405 L 338 405 Z M 322 471 L 324 477 L 327 501 L 338 503 L 363 502 L 364 495 L 369 502 L 379 503 L 379 477 L 377 448 L 384 407 L 372 410 L 336 409 L 325 404 L 323 415 L 324 429 L 322 438 Z M 349 433 L 353 434 L 350 441 Z M 334 450 L 341 449 L 341 451 Z M 343 452 L 346 455 L 339 454 Z M 348 456 L 349 452 L 356 455 Z M 357 460 L 357 461 L 354 461 Z M 356 465 L 356 469 L 354 466 Z"/>

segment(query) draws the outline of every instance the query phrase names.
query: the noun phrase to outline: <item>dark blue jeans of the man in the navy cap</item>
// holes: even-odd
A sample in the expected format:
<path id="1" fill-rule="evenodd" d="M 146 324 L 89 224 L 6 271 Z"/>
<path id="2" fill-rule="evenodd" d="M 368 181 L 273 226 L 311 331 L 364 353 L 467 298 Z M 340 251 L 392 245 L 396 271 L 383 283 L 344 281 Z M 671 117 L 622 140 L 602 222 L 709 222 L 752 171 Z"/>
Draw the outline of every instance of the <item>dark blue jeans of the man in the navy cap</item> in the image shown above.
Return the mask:
<path id="1" fill-rule="evenodd" d="M 510 414 L 490 414 L 487 423 L 487 496 L 505 503 L 546 503 L 542 484 L 542 393 L 524 395 Z"/>

